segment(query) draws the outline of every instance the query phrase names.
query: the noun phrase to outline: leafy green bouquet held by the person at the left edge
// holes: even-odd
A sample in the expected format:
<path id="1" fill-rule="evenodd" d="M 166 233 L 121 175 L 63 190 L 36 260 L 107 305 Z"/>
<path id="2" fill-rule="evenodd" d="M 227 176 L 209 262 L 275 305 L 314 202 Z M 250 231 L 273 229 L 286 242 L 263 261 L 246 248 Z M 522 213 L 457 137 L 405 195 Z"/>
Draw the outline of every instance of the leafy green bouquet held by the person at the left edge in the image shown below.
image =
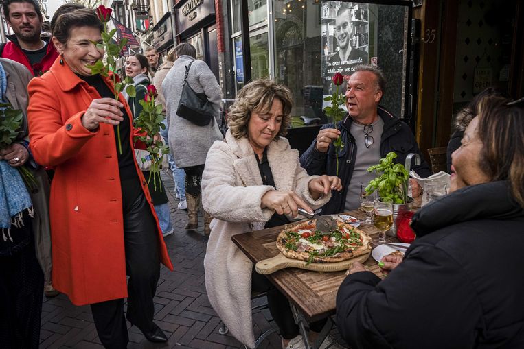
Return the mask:
<path id="1" fill-rule="evenodd" d="M 13 109 L 10 103 L 0 103 L 0 149 L 12 145 L 20 134 L 23 113 L 22 110 Z M 27 189 L 36 189 L 36 180 L 33 173 L 25 165 L 16 167 Z"/>

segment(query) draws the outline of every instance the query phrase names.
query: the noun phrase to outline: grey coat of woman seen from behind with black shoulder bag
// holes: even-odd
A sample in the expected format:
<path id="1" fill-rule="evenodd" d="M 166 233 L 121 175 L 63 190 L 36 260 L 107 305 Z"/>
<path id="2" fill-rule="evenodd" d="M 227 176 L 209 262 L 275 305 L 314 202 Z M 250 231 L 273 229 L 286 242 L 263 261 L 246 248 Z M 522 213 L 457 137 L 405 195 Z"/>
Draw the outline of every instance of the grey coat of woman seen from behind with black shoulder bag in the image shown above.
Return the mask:
<path id="1" fill-rule="evenodd" d="M 198 93 L 204 92 L 207 99 L 214 106 L 215 120 L 207 126 L 197 126 L 176 115 L 182 94 L 185 67 L 194 58 L 180 56 L 173 64 L 168 75 L 163 80 L 162 91 L 166 98 L 166 118 L 169 128 L 169 147 L 178 167 L 203 165 L 207 151 L 214 141 L 223 139 L 216 119 L 220 116 L 220 85 L 216 77 L 202 60 L 195 60 L 192 64 L 187 82 Z"/>

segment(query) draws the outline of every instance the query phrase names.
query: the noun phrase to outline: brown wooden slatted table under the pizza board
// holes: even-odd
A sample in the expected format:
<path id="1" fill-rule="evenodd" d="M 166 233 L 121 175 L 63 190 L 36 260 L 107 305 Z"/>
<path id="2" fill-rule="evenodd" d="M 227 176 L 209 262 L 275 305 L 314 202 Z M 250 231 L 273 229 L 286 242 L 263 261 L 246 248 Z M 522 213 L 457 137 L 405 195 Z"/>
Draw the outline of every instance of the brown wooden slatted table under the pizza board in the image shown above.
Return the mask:
<path id="1" fill-rule="evenodd" d="M 420 199 L 415 200 L 414 206 L 420 206 Z M 353 210 L 344 214 L 352 215 L 361 219 L 361 221 L 365 220 L 365 213 L 360 210 Z M 257 263 L 280 253 L 275 245 L 275 241 L 282 229 L 283 227 L 280 226 L 247 232 L 234 235 L 231 239 L 253 263 Z M 372 224 L 361 224 L 358 229 L 363 230 L 371 237 L 378 235 L 378 230 Z M 395 238 L 391 239 L 397 241 Z M 381 272 L 378 263 L 371 255 L 367 258 L 364 265 L 367 265 L 369 271 L 378 277 L 384 278 L 385 275 Z M 306 321 L 314 322 L 325 319 L 335 313 L 337 291 L 345 278 L 345 270 L 341 272 L 312 272 L 304 269 L 288 268 L 266 276 L 290 300 L 295 320 L 301 326 L 301 333 L 305 337 L 304 341 L 307 341 L 304 323 Z M 328 327 L 328 324 L 325 327 Z M 319 339 L 323 339 L 328 331 L 329 328 L 327 330 L 325 328 Z M 313 347 L 317 348 L 317 343 Z M 307 343 L 306 348 L 309 348 Z"/>

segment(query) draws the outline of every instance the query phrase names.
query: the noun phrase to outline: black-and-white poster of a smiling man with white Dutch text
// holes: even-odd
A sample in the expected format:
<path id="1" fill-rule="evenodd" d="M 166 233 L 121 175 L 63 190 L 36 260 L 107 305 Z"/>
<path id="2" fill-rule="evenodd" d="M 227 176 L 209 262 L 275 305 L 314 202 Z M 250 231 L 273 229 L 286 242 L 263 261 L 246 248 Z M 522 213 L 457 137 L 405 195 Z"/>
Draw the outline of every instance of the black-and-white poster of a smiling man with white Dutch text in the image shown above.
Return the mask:
<path id="1" fill-rule="evenodd" d="M 369 6 L 324 1 L 321 23 L 323 93 L 328 95 L 333 93 L 335 73 L 347 81 L 358 64 L 369 64 Z M 341 88 L 339 92 L 345 90 L 345 82 Z"/>

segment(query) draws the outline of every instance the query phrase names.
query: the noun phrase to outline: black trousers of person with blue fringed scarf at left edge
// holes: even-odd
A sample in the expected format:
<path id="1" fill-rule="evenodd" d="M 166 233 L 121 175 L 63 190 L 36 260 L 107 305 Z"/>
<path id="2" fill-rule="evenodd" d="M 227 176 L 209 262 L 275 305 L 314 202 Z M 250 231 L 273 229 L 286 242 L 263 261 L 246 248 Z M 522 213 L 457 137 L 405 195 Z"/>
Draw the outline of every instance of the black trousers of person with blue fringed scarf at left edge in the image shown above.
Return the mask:
<path id="1" fill-rule="evenodd" d="M 11 226 L 13 241 L 0 233 L 0 348 L 37 349 L 44 293 L 44 274 L 34 252 L 31 220 Z"/>

